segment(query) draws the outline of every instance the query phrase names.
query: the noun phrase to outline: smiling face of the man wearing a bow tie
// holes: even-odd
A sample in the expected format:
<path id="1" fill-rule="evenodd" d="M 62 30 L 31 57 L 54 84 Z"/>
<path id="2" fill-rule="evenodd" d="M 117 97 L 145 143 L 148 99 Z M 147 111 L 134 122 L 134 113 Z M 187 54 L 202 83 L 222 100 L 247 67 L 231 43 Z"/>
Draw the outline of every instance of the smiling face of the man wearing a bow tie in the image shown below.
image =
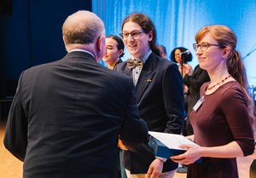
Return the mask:
<path id="1" fill-rule="evenodd" d="M 137 23 L 132 21 L 126 22 L 123 26 L 123 33 L 131 33 L 134 31 L 142 32 L 143 29 Z M 149 41 L 151 41 L 153 37 L 151 33 L 152 32 L 142 32 L 137 37 L 131 37 L 131 34 L 129 34 L 127 38 L 123 39 L 126 49 L 128 49 L 129 53 L 132 56 L 139 58 L 148 52 L 148 50 L 150 49 Z"/>

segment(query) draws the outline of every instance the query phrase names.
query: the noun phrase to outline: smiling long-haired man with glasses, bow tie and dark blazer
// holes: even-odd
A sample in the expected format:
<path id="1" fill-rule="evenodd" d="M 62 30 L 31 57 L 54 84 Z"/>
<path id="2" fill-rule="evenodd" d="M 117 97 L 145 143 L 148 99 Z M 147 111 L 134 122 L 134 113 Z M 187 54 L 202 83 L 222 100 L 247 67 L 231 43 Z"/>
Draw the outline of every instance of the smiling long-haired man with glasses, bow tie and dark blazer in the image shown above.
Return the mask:
<path id="1" fill-rule="evenodd" d="M 181 134 L 183 79 L 176 64 L 160 57 L 154 24 L 145 14 L 130 14 L 123 21 L 120 36 L 133 57 L 114 70 L 133 78 L 140 117 L 148 130 Z M 123 158 L 129 178 L 173 177 L 177 169 L 172 160 L 155 158 L 147 142 L 137 152 L 123 151 Z"/>

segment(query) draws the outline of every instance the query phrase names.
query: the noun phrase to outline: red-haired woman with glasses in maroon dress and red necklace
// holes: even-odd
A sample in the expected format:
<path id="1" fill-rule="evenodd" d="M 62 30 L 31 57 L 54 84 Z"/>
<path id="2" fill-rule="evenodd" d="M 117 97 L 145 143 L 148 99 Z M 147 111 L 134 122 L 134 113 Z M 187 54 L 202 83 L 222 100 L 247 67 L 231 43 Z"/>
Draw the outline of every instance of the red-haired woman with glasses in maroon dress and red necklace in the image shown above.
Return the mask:
<path id="1" fill-rule="evenodd" d="M 194 135 L 188 138 L 199 146 L 181 145 L 187 152 L 172 160 L 189 164 L 188 178 L 238 178 L 236 158 L 254 151 L 255 113 L 236 35 L 227 26 L 205 26 L 195 41 L 200 66 L 210 77 L 189 117 Z M 201 164 L 195 164 L 199 158 Z"/>

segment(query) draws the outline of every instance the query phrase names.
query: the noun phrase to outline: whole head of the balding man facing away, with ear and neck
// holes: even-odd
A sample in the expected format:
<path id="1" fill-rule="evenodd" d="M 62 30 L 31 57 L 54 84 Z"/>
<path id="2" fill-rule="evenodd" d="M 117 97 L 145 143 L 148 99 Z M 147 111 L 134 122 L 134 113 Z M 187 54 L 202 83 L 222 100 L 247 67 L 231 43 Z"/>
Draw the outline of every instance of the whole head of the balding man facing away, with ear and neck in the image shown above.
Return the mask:
<path id="1" fill-rule="evenodd" d="M 62 26 L 67 52 L 84 49 L 100 61 L 106 50 L 105 28 L 102 20 L 90 11 L 79 10 L 71 14 Z"/>

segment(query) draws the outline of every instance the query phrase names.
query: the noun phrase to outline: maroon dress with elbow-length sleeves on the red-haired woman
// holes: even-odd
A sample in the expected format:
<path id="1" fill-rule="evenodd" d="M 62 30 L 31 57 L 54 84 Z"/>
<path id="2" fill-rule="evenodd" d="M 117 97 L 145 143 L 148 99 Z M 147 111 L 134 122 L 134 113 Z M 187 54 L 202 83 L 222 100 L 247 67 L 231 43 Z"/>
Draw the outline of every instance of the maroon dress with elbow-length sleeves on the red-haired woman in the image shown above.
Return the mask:
<path id="1" fill-rule="evenodd" d="M 201 87 L 204 95 L 207 83 Z M 253 154 L 253 129 L 247 114 L 247 102 L 236 81 L 224 83 L 211 95 L 204 95 L 201 107 L 190 113 L 195 143 L 223 146 L 236 141 L 244 156 Z M 238 178 L 236 158 L 202 158 L 190 164 L 188 178 Z"/>

